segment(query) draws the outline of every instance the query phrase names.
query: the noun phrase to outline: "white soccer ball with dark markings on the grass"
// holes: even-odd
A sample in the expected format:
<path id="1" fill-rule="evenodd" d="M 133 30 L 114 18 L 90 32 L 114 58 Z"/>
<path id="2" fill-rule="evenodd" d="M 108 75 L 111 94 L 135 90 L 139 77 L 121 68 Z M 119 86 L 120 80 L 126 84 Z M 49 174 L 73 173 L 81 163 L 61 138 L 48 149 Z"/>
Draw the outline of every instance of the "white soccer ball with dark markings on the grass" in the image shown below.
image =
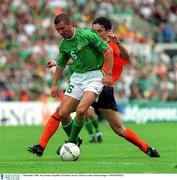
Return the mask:
<path id="1" fill-rule="evenodd" d="M 76 161 L 79 155 L 80 149 L 74 143 L 65 143 L 60 149 L 60 157 L 63 161 Z"/>

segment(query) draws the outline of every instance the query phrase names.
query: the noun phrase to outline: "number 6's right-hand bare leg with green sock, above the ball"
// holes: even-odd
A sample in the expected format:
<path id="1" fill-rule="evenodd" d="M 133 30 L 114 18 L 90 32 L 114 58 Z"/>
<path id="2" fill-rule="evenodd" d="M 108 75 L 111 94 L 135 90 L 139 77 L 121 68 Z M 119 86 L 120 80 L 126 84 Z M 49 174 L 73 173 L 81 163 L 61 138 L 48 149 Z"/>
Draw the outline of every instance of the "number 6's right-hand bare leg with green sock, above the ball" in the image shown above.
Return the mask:
<path id="1" fill-rule="evenodd" d="M 91 91 L 85 91 L 84 95 L 76 109 L 76 117 L 73 120 L 71 134 L 68 141 L 76 143 L 78 134 L 84 125 L 84 115 L 90 105 L 96 100 L 97 94 Z"/>

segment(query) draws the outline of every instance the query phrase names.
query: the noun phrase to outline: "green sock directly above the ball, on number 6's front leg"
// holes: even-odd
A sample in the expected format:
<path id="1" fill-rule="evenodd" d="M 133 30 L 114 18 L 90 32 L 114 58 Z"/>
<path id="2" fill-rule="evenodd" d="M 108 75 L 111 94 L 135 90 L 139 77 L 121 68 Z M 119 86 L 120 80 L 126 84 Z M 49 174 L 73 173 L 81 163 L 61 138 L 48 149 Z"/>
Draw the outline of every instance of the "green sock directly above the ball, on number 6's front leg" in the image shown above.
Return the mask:
<path id="1" fill-rule="evenodd" d="M 73 120 L 71 134 L 68 139 L 69 142 L 77 143 L 78 135 L 83 125 L 84 125 L 84 121 L 76 120 L 76 119 Z"/>

